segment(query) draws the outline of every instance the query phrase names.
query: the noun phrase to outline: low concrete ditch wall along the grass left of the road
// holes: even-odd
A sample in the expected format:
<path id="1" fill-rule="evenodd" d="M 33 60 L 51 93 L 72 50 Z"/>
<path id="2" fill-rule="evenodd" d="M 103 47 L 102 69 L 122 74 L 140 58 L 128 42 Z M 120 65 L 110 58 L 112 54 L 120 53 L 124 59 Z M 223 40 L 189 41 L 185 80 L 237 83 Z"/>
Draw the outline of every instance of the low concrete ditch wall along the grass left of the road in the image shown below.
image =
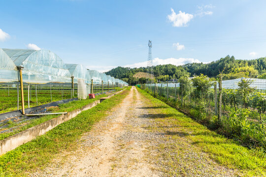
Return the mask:
<path id="1" fill-rule="evenodd" d="M 125 89 L 117 91 L 117 92 L 112 93 L 112 94 L 109 94 L 108 96 L 105 97 L 105 99 L 106 98 L 108 99 L 108 98 L 110 98 L 110 97 L 112 97 L 112 96 L 114 96 L 114 95 L 116 95 L 116 94 L 118 94 L 124 90 Z M 68 112 L 66 115 L 61 115 L 57 118 L 50 119 L 50 120 L 45 121 L 39 125 L 35 125 L 35 126 L 29 128 L 27 130 L 24 130 L 24 131 L 19 132 L 13 136 L 10 136 L 4 140 L 1 140 L 0 141 L 0 155 L 33 140 L 37 136 L 45 134 L 49 130 L 55 128 L 57 125 L 60 125 L 61 123 L 65 122 L 71 118 L 76 117 L 82 111 L 86 111 L 88 109 L 95 107 L 96 105 L 100 104 L 100 102 L 101 102 L 100 99 L 96 100 L 93 103 L 85 105 L 80 109 Z"/>

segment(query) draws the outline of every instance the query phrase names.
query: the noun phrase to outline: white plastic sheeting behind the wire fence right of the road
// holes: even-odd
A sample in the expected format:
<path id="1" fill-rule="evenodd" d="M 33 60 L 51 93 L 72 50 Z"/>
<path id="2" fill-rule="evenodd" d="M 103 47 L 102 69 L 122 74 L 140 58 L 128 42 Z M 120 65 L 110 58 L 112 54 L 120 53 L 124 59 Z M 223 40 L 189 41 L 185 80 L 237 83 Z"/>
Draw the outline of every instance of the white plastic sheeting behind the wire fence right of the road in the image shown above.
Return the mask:
<path id="1" fill-rule="evenodd" d="M 223 89 L 238 89 L 238 83 L 241 81 L 243 78 L 238 78 L 238 79 L 233 79 L 233 80 L 227 80 L 227 81 L 222 81 L 222 88 Z M 252 80 L 252 84 L 250 87 L 255 88 L 255 89 L 260 89 L 260 90 L 266 90 L 266 79 L 254 79 L 254 78 L 244 78 L 246 80 Z M 217 88 L 219 86 L 218 82 L 217 83 Z M 153 86 L 154 84 L 152 84 Z M 148 84 L 148 86 L 150 86 Z M 157 84 L 158 87 L 161 87 L 161 83 Z M 163 84 L 162 87 L 167 87 L 167 84 Z M 168 87 L 175 87 L 174 83 L 168 83 Z M 179 87 L 179 83 L 176 83 L 176 87 Z M 211 89 L 214 89 L 214 86 L 211 87 Z"/>

